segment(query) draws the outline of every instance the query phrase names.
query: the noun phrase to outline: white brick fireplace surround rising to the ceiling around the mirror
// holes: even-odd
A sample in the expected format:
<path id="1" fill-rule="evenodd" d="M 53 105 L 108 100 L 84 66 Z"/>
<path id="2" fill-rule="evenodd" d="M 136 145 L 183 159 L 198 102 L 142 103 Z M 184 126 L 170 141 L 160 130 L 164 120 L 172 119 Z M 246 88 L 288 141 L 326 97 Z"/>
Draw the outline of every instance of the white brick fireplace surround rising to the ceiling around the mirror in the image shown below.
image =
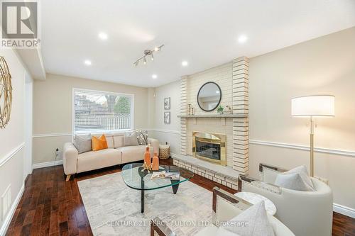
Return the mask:
<path id="1" fill-rule="evenodd" d="M 222 106 L 231 106 L 235 114 L 247 114 L 249 111 L 248 96 L 249 60 L 239 57 L 219 67 L 207 69 L 189 76 L 182 77 L 181 114 L 187 114 L 187 104 L 195 108 L 195 114 L 217 113 L 205 112 L 197 104 L 197 93 L 206 82 L 216 82 L 222 91 Z M 248 172 L 249 157 L 249 120 L 234 119 L 186 119 L 181 118 L 181 154 L 192 154 L 192 132 L 222 133 L 226 135 L 227 165 L 239 172 Z M 222 180 L 221 180 L 222 182 Z"/>

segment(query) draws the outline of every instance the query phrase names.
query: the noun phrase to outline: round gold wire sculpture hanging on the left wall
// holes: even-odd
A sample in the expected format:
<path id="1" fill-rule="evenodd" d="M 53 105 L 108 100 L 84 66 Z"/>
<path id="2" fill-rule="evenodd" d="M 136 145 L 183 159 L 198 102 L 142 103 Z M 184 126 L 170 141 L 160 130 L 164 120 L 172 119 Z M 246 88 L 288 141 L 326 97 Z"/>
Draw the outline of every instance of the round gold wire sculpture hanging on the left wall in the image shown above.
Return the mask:
<path id="1" fill-rule="evenodd" d="M 0 56 L 0 128 L 9 123 L 12 105 L 11 74 L 4 57 Z"/>

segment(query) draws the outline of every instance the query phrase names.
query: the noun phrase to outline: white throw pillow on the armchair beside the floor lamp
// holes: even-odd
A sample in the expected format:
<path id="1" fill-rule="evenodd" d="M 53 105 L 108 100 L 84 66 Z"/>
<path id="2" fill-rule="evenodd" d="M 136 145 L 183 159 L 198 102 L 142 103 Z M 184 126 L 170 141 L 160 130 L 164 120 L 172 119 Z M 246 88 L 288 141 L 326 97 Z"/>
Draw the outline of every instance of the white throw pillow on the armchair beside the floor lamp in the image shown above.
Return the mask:
<path id="1" fill-rule="evenodd" d="M 315 191 L 304 165 L 278 174 L 275 179 L 275 185 L 297 191 Z"/>

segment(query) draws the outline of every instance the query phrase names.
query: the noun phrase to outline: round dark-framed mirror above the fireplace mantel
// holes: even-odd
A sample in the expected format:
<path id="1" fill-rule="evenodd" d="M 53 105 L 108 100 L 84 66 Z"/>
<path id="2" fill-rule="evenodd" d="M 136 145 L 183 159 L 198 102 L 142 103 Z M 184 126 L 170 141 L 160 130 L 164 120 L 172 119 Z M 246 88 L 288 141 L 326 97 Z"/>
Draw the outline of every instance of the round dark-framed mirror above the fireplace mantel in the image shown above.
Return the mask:
<path id="1" fill-rule="evenodd" d="M 197 94 L 197 103 L 203 111 L 213 111 L 222 99 L 222 91 L 218 84 L 207 82 L 202 85 Z"/>

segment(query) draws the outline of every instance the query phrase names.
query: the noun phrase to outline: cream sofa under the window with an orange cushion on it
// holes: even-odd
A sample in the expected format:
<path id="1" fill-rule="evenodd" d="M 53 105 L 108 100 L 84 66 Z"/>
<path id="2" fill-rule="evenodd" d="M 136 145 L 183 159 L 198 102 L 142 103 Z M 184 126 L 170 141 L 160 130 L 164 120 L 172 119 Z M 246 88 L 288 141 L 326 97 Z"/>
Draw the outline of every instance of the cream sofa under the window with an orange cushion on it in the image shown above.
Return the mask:
<path id="1" fill-rule="evenodd" d="M 102 133 L 94 133 L 92 135 L 101 136 Z M 104 133 L 104 135 L 107 140 L 107 146 L 109 147 L 104 150 L 79 154 L 71 142 L 64 144 L 62 159 L 67 181 L 69 181 L 72 174 L 144 159 L 146 145 L 124 146 L 124 133 Z M 148 138 L 148 144 L 153 147 L 151 148 L 151 157 L 153 157 L 153 152 L 159 152 L 159 141 Z"/>

